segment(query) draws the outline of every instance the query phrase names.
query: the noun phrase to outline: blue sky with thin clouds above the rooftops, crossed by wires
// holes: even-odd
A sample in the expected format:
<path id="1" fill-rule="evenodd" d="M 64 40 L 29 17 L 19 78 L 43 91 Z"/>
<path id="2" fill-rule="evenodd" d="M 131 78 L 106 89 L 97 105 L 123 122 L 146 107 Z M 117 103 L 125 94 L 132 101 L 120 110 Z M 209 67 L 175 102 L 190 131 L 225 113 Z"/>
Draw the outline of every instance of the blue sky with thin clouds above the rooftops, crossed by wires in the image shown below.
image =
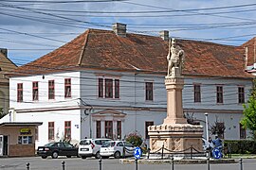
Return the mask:
<path id="1" fill-rule="evenodd" d="M 22 2 L 18 2 L 22 1 Z M 87 0 L 88 1 L 88 0 Z M 100 0 L 107 1 L 107 0 Z M 256 35 L 253 0 L 1 0 L 0 47 L 18 65 L 38 59 L 88 28 L 127 24 L 132 33 L 241 45 Z"/>

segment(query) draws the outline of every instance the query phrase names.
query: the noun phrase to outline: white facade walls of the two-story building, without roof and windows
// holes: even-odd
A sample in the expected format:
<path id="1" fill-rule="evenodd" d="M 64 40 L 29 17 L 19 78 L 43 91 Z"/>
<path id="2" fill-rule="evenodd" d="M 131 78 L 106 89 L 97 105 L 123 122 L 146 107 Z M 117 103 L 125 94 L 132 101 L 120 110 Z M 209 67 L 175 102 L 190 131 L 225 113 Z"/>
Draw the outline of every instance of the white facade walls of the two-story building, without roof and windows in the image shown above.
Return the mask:
<path id="1" fill-rule="evenodd" d="M 77 71 L 43 76 L 11 77 L 9 82 L 11 117 L 1 121 L 43 122 L 38 127 L 37 145 L 48 140 L 48 122 L 54 122 L 54 140 L 64 139 L 64 122 L 71 121 L 71 142 L 78 143 L 84 137 L 96 137 L 97 121 L 101 122 L 101 136 L 105 137 L 105 121 L 113 122 L 113 137 L 117 138 L 118 122 L 121 136 L 137 131 L 145 138 L 145 122 L 163 123 L 166 117 L 166 90 L 164 75 Z M 64 78 L 71 78 L 71 97 L 64 97 Z M 99 97 L 99 78 L 119 79 L 119 98 Z M 48 99 L 48 80 L 55 82 L 55 99 Z M 32 100 L 32 82 L 39 82 L 39 100 Z M 145 100 L 145 82 L 153 82 L 153 101 Z M 17 84 L 23 83 L 23 102 L 17 102 Z M 194 102 L 193 84 L 201 86 L 201 102 Z M 224 102 L 216 104 L 216 85 L 223 86 Z M 104 86 L 105 87 L 105 86 Z M 209 113 L 209 125 L 216 116 L 226 126 L 225 139 L 240 139 L 239 121 L 243 106 L 238 104 L 238 87 L 251 88 L 250 79 L 185 77 L 183 108 L 205 127 L 205 112 Z M 104 90 L 105 91 L 105 90 Z M 115 93 L 115 88 L 113 88 Z M 147 140 L 145 140 L 147 142 Z"/>

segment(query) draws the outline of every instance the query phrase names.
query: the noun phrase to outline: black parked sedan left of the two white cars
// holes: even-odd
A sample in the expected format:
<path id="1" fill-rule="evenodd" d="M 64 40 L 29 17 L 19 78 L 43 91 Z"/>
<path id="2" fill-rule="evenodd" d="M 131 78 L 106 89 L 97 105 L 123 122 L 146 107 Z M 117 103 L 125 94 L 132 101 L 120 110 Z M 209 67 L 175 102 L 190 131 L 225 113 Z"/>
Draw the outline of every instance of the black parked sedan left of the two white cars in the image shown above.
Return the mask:
<path id="1" fill-rule="evenodd" d="M 78 147 L 63 142 L 49 143 L 44 146 L 38 146 L 37 155 L 43 159 L 46 159 L 47 156 L 51 156 L 53 159 L 57 159 L 58 156 L 71 158 L 71 156 L 78 156 Z"/>

